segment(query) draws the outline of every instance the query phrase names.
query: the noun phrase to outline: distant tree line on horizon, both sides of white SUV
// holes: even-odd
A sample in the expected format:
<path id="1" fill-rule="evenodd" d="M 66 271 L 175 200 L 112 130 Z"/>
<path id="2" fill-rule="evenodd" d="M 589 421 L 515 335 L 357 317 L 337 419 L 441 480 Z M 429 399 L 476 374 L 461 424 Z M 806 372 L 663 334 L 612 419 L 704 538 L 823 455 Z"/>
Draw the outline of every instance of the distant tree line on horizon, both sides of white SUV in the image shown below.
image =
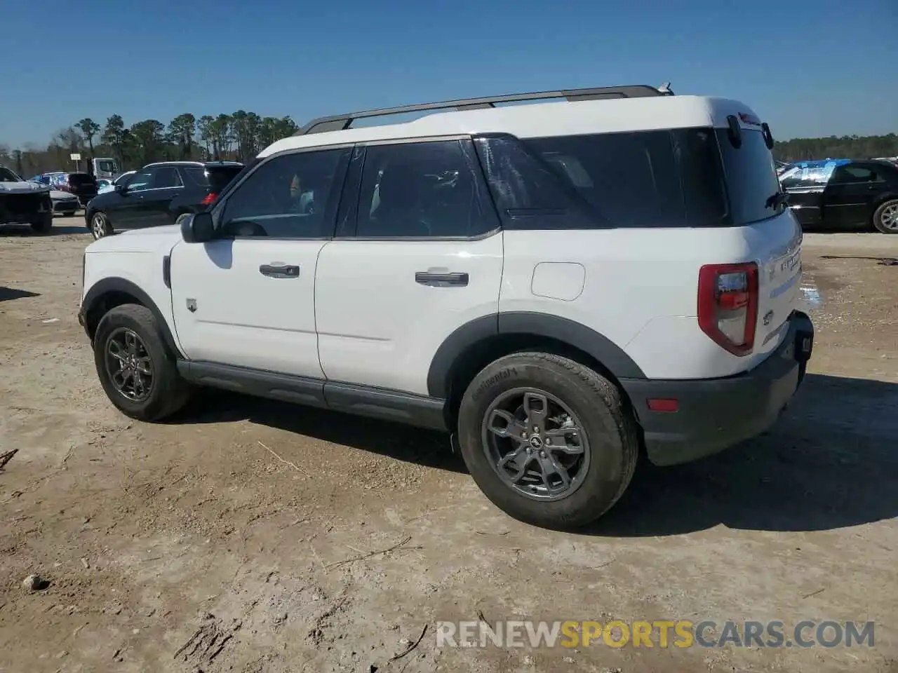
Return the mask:
<path id="1" fill-rule="evenodd" d="M 91 118 L 84 118 L 57 131 L 43 148 L 26 144 L 11 149 L 0 144 L 0 163 L 28 178 L 50 170 L 71 170 L 69 155 L 72 153 L 80 153 L 87 160 L 113 157 L 119 161 L 121 170 L 166 160 L 247 162 L 262 148 L 293 135 L 296 129 L 292 118 L 260 117 L 242 109 L 230 115 L 199 118 L 185 112 L 168 125 L 157 119 L 144 119 L 128 127 L 120 115 L 112 115 L 101 126 Z M 793 138 L 774 144 L 773 154 L 784 162 L 898 156 L 898 135 Z M 84 165 L 83 161 L 82 170 Z"/>

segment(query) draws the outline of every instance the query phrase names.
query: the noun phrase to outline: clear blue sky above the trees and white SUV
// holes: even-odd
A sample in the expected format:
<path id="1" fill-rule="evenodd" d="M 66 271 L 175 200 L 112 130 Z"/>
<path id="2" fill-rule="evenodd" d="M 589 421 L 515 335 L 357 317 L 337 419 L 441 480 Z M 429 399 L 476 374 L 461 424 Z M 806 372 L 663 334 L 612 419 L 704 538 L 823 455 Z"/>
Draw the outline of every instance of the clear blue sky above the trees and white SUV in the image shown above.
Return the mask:
<path id="1" fill-rule="evenodd" d="M 737 98 L 779 138 L 898 132 L 898 0 L 5 3 L 0 144 L 246 109 L 619 83 Z M 607 6 L 604 6 L 607 5 Z M 58 12 L 58 13 L 57 13 Z"/>

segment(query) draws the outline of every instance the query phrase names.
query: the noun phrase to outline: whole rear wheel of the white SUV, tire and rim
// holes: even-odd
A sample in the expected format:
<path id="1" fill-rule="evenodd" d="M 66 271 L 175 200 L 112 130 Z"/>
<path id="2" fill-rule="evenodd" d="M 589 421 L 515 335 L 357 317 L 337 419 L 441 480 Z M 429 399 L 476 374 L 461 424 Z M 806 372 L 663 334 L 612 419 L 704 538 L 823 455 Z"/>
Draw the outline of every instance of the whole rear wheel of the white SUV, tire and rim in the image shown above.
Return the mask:
<path id="1" fill-rule="evenodd" d="M 638 434 L 621 392 L 595 371 L 545 353 L 506 355 L 465 391 L 462 457 L 489 500 L 517 520 L 576 529 L 629 485 Z"/>

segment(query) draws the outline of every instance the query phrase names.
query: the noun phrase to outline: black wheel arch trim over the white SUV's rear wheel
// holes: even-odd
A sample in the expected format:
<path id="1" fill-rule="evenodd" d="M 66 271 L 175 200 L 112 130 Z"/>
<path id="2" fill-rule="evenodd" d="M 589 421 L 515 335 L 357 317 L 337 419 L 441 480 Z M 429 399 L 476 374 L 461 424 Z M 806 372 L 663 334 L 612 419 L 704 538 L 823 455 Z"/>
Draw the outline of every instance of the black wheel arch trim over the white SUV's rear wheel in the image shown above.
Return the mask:
<path id="1" fill-rule="evenodd" d="M 445 338 L 427 371 L 427 393 L 434 398 L 449 398 L 456 364 L 472 347 L 500 335 L 547 337 L 591 355 L 618 379 L 646 378 L 620 346 L 592 328 L 550 313 L 506 311 L 473 319 Z"/>

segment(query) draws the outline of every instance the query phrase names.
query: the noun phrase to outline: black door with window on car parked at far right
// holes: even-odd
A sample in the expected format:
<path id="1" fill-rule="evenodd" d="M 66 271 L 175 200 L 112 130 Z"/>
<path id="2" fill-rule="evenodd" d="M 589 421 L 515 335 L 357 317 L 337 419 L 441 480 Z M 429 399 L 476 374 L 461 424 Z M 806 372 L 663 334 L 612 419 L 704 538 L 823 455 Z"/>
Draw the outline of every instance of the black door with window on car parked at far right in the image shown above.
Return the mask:
<path id="1" fill-rule="evenodd" d="M 876 200 L 889 188 L 875 169 L 846 163 L 833 171 L 823 192 L 824 217 L 833 227 L 858 229 L 870 224 Z"/>

